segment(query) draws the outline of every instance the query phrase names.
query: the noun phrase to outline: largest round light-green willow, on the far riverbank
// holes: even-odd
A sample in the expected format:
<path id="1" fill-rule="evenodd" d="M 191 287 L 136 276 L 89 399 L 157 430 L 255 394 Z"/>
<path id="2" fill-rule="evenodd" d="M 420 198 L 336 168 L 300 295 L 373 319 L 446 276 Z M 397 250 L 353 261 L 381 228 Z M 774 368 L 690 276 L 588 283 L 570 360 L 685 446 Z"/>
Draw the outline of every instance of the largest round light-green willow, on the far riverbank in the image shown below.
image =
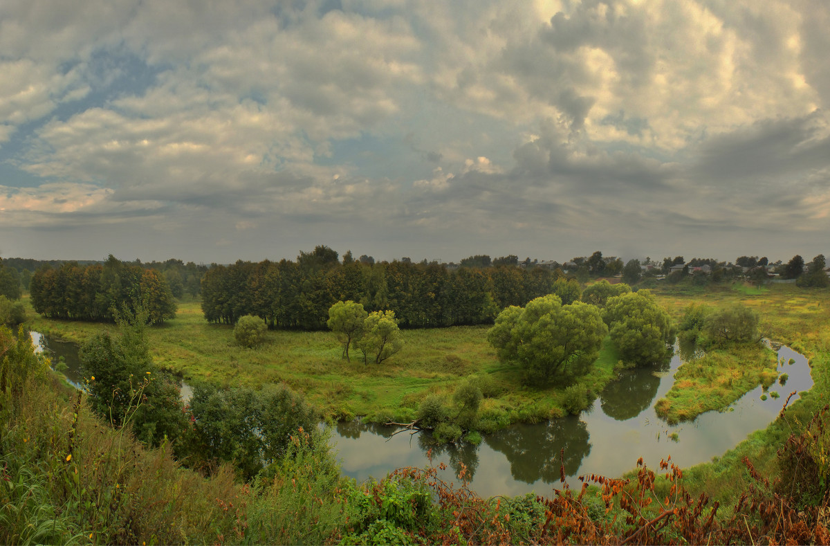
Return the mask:
<path id="1" fill-rule="evenodd" d="M 515 363 L 528 378 L 549 383 L 588 372 L 608 329 L 593 305 L 562 305 L 557 295 L 508 307 L 487 332 L 500 360 Z"/>

